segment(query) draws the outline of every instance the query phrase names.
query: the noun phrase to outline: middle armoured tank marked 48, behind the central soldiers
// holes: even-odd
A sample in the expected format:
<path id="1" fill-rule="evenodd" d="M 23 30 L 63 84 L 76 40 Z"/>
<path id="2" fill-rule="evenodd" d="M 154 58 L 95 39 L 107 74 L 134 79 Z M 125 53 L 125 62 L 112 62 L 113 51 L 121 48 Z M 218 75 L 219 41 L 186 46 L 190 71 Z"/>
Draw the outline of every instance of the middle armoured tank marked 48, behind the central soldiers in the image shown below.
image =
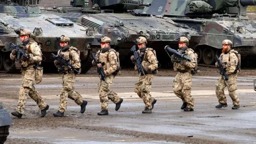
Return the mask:
<path id="1" fill-rule="evenodd" d="M 99 34 L 110 37 L 112 47 L 120 53 L 120 60 L 128 58 L 133 41 L 139 36 L 146 37 L 147 46 L 156 50 L 161 64 L 167 62 L 165 58 L 168 57 L 161 47 L 170 45 L 178 49 L 180 36 L 190 39 L 190 47 L 196 46 L 201 39 L 195 30 L 167 17 L 134 13 L 134 9 L 151 5 L 143 3 L 143 0 L 86 0 L 85 3 L 84 0 L 71 0 L 70 3 L 75 7 L 57 9 L 55 14 L 70 20 L 76 19 L 83 26 L 94 28 Z M 45 11 L 49 12 L 52 11 Z"/>

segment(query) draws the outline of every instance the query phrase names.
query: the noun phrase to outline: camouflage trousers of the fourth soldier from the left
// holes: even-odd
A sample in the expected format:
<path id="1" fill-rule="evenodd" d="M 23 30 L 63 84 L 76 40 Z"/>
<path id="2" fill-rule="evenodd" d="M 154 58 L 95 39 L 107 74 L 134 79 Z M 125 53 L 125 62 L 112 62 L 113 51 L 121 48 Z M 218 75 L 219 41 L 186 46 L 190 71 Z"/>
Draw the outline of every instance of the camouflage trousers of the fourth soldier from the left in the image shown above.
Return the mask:
<path id="1" fill-rule="evenodd" d="M 152 102 L 154 98 L 151 96 L 151 84 L 153 80 L 152 74 L 147 74 L 145 76 L 139 76 L 137 83 L 135 84 L 134 92 L 143 100 L 145 108 L 152 109 Z"/>

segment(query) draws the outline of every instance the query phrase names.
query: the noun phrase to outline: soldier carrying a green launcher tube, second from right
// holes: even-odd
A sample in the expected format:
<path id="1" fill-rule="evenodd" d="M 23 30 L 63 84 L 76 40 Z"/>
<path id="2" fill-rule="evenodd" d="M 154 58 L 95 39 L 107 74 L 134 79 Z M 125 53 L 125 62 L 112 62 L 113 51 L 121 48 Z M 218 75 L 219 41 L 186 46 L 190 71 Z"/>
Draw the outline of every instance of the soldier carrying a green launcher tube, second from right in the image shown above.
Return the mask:
<path id="1" fill-rule="evenodd" d="M 180 37 L 178 52 L 188 55 L 192 60 L 180 60 L 171 56 L 174 71 L 178 71 L 173 82 L 173 92 L 183 101 L 180 107 L 184 111 L 194 111 L 194 98 L 191 96 L 192 69 L 196 67 L 195 52 L 188 48 L 188 38 Z"/>

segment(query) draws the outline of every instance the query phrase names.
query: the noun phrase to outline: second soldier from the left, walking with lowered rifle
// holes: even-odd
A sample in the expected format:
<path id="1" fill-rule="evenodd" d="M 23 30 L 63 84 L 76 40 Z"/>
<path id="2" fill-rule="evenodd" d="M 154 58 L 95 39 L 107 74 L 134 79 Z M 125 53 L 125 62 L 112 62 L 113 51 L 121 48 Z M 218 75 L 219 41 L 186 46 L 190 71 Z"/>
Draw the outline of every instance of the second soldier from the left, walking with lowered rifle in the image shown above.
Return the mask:
<path id="1" fill-rule="evenodd" d="M 76 70 L 80 71 L 81 60 L 79 58 L 80 52 L 73 46 L 69 46 L 70 38 L 68 36 L 60 36 L 60 47 L 61 49 L 58 51 L 58 55 L 63 56 L 64 59 L 70 60 L 69 63 L 76 68 Z M 58 68 L 59 73 L 63 74 L 62 76 L 62 89 L 60 93 L 60 105 L 58 111 L 53 114 L 53 116 L 62 117 L 64 116 L 64 112 L 67 108 L 67 100 L 68 98 L 74 100 L 77 105 L 81 106 L 80 112 L 83 114 L 85 111 L 85 107 L 87 105 L 87 101 L 82 100 L 82 96 L 74 91 L 74 81 L 76 77 L 76 73 L 73 70 L 68 69 L 68 67 L 63 66 L 63 71 L 60 71 L 60 63 L 58 60 L 54 60 L 55 66 Z M 79 73 L 78 73 L 79 74 Z"/>

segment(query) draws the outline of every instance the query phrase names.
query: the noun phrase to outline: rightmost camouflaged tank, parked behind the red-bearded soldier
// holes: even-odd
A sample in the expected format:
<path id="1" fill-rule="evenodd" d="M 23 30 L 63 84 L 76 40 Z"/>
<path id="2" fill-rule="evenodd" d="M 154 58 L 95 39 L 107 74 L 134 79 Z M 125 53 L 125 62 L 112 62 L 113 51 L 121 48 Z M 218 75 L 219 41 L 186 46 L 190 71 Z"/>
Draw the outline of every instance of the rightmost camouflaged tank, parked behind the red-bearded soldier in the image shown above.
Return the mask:
<path id="1" fill-rule="evenodd" d="M 145 0 L 151 7 L 138 12 L 169 17 L 188 25 L 201 36 L 196 46 L 198 62 L 211 65 L 215 54 L 221 53 L 221 43 L 229 39 L 241 54 L 241 63 L 250 64 L 256 56 L 256 22 L 246 15 L 248 5 L 255 0 Z"/>

